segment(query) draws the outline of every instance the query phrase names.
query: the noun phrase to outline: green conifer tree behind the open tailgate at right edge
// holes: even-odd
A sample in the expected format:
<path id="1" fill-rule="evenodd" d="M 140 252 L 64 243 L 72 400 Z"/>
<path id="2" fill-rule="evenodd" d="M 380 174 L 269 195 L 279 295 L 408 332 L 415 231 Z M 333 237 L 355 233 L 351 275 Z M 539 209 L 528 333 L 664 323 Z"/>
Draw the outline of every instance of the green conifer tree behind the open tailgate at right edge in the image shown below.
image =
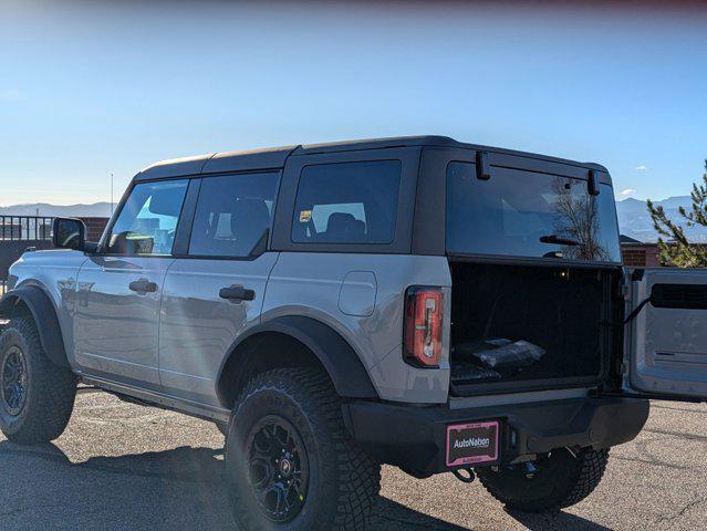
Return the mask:
<path id="1" fill-rule="evenodd" d="M 693 184 L 693 205 L 689 209 L 679 207 L 680 222 L 685 227 L 707 227 L 707 159 L 701 184 Z M 647 201 L 653 227 L 658 232 L 661 263 L 678 268 L 707 268 L 707 246 L 690 244 L 685 236 L 685 227 L 667 217 L 663 207 Z"/>

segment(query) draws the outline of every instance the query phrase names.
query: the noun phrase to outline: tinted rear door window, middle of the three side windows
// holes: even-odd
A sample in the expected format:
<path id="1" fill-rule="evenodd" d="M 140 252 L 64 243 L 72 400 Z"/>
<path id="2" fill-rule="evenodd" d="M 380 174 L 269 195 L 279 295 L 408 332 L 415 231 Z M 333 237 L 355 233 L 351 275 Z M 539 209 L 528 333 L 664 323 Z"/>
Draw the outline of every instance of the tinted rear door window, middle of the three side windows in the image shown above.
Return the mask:
<path id="1" fill-rule="evenodd" d="M 189 254 L 245 258 L 270 228 L 279 174 L 206 177 L 197 201 Z"/>

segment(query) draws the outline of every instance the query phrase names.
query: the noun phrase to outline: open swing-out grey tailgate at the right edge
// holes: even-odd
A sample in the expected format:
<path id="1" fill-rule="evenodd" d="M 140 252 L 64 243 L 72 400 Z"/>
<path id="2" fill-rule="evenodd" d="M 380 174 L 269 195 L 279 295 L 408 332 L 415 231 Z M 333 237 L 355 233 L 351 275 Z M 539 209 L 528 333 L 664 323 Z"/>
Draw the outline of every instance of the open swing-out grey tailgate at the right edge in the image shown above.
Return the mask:
<path id="1" fill-rule="evenodd" d="M 707 270 L 635 270 L 626 281 L 626 391 L 707 400 Z"/>

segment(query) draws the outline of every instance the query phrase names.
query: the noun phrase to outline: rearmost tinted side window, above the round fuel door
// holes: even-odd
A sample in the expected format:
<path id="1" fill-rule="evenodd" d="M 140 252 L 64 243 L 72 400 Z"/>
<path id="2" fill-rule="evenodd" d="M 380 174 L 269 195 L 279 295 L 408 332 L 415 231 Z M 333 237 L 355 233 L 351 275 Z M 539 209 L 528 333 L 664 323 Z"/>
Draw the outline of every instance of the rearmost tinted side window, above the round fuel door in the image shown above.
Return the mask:
<path id="1" fill-rule="evenodd" d="M 302 169 L 292 220 L 295 243 L 391 243 L 399 160 L 322 164 Z"/>

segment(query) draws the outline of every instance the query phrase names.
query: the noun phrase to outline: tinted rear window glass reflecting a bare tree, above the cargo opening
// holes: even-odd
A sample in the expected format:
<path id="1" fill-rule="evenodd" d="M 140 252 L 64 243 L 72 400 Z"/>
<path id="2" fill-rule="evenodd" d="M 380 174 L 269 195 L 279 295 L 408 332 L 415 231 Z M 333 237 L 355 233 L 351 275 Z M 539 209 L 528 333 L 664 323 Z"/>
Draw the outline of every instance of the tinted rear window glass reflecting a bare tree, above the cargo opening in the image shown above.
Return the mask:
<path id="1" fill-rule="evenodd" d="M 614 194 L 585 180 L 475 166 L 447 167 L 447 252 L 621 262 Z"/>

